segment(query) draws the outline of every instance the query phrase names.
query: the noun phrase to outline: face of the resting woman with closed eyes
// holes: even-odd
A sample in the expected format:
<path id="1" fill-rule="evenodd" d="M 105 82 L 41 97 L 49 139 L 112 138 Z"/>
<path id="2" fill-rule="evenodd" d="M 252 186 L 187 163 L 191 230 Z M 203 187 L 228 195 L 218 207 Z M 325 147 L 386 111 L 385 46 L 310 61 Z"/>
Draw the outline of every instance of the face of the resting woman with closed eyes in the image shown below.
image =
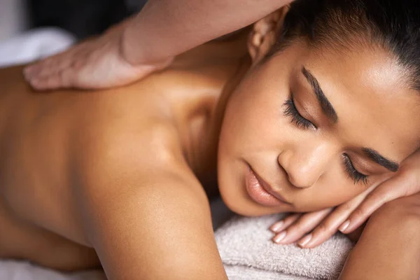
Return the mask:
<path id="1" fill-rule="evenodd" d="M 395 175 L 420 143 L 420 95 L 377 48 L 293 43 L 232 93 L 218 154 L 239 214 L 334 207 Z"/>

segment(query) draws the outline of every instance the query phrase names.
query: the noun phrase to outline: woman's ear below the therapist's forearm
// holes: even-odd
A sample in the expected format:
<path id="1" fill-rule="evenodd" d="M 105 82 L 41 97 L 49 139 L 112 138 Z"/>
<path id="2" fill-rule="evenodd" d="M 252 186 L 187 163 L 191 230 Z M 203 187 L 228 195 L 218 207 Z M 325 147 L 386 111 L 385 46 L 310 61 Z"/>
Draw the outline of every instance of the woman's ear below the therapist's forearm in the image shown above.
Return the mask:
<path id="1" fill-rule="evenodd" d="M 260 62 L 276 43 L 276 37 L 283 25 L 287 7 L 276 10 L 265 18 L 258 20 L 248 37 L 248 52 L 251 55 L 253 65 Z"/>

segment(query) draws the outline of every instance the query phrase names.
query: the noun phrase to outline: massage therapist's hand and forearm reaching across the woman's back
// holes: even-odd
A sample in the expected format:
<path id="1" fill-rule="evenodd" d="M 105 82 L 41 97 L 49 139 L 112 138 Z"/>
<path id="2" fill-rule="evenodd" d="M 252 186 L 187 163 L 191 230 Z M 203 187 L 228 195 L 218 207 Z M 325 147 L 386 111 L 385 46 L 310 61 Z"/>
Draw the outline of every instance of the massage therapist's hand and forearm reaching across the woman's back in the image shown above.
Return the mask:
<path id="1" fill-rule="evenodd" d="M 126 24 L 25 69 L 36 90 L 116 87 L 174 56 L 263 18 L 291 0 L 149 0 Z"/>

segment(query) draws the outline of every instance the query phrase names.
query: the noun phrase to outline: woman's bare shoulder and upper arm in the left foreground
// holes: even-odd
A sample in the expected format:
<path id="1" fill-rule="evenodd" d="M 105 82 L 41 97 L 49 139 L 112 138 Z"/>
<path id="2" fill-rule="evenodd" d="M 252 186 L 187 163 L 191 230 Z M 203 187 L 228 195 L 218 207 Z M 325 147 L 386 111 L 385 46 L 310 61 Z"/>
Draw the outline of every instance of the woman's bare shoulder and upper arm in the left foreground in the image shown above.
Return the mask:
<path id="1" fill-rule="evenodd" d="M 90 242 L 109 279 L 225 279 L 209 203 L 178 134 L 150 125 L 103 132 L 76 159 Z"/>

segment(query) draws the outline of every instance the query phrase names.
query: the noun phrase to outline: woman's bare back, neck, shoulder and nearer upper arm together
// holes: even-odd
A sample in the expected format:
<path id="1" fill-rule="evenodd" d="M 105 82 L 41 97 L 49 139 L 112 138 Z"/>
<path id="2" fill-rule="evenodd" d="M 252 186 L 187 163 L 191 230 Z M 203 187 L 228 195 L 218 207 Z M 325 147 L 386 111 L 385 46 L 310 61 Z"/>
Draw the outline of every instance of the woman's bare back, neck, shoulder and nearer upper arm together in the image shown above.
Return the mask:
<path id="1" fill-rule="evenodd" d="M 227 279 L 197 179 L 214 192 L 215 167 L 194 152 L 216 146 L 203 126 L 245 55 L 243 40 L 206 45 L 91 94 L 36 94 L 22 67 L 2 69 L 0 255 L 109 279 Z"/>

